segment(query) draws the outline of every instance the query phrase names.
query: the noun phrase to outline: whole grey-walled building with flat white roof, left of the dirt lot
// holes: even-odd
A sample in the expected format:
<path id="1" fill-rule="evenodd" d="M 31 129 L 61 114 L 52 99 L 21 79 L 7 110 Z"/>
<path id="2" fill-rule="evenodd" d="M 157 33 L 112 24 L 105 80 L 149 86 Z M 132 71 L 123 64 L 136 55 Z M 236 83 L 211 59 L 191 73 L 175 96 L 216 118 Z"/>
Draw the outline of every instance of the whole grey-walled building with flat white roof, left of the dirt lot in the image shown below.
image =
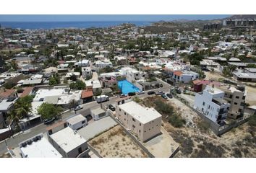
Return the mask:
<path id="1" fill-rule="evenodd" d="M 48 128 L 48 140 L 63 157 L 88 157 L 87 141 L 65 123 Z"/>

